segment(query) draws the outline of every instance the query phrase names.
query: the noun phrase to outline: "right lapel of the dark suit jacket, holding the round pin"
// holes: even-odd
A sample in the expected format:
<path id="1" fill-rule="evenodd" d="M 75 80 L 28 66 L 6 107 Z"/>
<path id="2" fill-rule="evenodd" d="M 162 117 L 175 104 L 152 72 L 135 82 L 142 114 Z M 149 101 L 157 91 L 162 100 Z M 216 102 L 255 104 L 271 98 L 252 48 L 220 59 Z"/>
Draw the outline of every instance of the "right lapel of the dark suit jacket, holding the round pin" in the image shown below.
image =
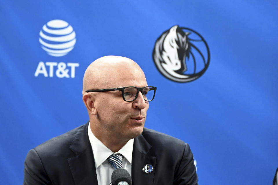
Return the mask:
<path id="1" fill-rule="evenodd" d="M 153 184 L 156 170 L 156 157 L 147 155 L 150 149 L 151 145 L 145 140 L 142 134 L 134 138 L 131 165 L 132 185 Z M 142 171 L 146 164 L 151 164 L 153 166 L 153 171 L 151 173 L 147 174 Z"/>

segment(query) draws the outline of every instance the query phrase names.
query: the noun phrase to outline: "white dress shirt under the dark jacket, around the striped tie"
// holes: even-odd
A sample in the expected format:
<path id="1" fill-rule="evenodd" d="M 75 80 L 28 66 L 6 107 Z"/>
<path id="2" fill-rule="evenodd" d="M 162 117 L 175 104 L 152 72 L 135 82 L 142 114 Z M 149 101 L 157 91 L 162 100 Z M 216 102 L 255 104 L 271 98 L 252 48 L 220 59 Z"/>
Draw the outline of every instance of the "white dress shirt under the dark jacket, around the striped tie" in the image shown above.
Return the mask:
<path id="1" fill-rule="evenodd" d="M 98 185 L 109 185 L 111 181 L 111 175 L 115 169 L 108 162 L 107 158 L 112 154 L 120 153 L 124 156 L 122 159 L 122 167 L 123 169 L 126 169 L 131 176 L 131 161 L 134 139 L 129 140 L 125 146 L 123 146 L 118 152 L 114 153 L 105 145 L 103 145 L 103 143 L 101 143 L 101 141 L 98 140 L 96 136 L 94 136 L 90 129 L 90 123 L 88 127 L 88 135 L 94 153 Z"/>

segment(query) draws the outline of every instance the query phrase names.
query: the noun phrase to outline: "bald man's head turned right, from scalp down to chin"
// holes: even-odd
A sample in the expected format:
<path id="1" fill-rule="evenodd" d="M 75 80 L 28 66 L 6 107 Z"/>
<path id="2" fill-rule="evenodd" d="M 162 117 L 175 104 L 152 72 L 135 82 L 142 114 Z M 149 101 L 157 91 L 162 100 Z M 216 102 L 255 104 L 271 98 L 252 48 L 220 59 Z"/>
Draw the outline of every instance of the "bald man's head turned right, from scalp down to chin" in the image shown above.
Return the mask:
<path id="1" fill-rule="evenodd" d="M 85 92 L 127 86 L 147 86 L 142 69 L 129 58 L 105 56 L 95 60 L 85 71 L 83 101 L 89 113 L 92 132 L 98 139 L 109 135 L 127 141 L 142 133 L 149 102 L 144 100 L 141 92 L 131 102 L 124 101 L 122 92 L 118 90 Z"/>

